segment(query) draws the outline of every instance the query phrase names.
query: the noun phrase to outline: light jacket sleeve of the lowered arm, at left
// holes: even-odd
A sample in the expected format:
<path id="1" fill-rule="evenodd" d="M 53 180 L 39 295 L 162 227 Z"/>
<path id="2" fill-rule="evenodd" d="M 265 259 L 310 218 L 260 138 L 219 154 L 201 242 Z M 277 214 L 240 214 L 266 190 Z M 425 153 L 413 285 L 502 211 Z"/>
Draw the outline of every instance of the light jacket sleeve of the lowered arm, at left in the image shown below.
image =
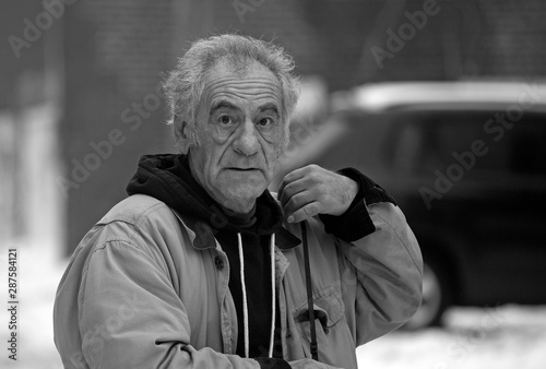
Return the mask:
<path id="1" fill-rule="evenodd" d="M 88 255 L 78 306 L 83 357 L 91 368 L 277 368 L 274 359 L 260 365 L 195 349 L 168 273 L 138 243 L 108 238 Z"/>

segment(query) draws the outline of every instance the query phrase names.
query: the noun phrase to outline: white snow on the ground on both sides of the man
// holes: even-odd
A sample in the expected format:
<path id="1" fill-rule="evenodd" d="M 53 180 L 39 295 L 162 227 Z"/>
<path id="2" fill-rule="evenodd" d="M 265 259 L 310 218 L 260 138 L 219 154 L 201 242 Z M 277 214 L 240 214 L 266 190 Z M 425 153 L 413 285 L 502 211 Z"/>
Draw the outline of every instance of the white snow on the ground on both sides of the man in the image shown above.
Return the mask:
<path id="1" fill-rule="evenodd" d="M 8 272 L 5 253 L 2 250 L 0 275 Z M 20 248 L 17 361 L 9 360 L 9 353 L 1 348 L 0 368 L 62 368 L 52 341 L 51 313 L 66 265 L 67 261 L 55 261 L 36 249 Z M 5 294 L 1 296 L 7 302 Z M 2 308 L 3 347 L 8 319 L 7 308 Z M 546 368 L 546 307 L 454 308 L 448 311 L 446 323 L 446 329 L 397 331 L 359 347 L 359 368 Z"/>

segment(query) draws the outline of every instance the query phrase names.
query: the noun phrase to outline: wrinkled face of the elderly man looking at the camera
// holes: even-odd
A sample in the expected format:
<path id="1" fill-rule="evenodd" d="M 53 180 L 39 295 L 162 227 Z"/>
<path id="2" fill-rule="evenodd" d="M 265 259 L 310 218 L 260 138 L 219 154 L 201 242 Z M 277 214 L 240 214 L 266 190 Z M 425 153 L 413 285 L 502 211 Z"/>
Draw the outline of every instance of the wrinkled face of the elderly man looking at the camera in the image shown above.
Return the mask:
<path id="1" fill-rule="evenodd" d="M 248 213 L 270 183 L 283 151 L 281 108 L 278 80 L 258 62 L 242 72 L 218 62 L 207 72 L 190 166 L 224 207 Z"/>

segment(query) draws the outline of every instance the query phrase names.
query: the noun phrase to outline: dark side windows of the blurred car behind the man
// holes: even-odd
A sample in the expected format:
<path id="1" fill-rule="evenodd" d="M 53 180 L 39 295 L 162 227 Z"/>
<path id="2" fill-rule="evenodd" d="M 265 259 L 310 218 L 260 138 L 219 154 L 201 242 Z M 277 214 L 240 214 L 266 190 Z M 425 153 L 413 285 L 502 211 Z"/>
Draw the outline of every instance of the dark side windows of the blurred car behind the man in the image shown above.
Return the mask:
<path id="1" fill-rule="evenodd" d="M 442 111 L 396 117 L 387 157 L 393 168 L 404 172 L 443 171 L 460 163 L 458 157 L 473 155 L 465 178 L 546 176 L 545 118 L 526 114 L 502 126 L 495 121 L 497 114 Z M 483 155 L 473 153 L 475 145 L 482 145 Z"/>

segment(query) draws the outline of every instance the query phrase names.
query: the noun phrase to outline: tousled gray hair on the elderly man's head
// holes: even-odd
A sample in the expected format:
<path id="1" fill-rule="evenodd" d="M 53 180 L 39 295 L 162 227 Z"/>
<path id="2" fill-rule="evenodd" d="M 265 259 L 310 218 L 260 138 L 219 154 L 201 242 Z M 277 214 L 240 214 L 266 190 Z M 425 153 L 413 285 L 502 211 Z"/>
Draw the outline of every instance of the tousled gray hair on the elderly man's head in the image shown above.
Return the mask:
<path id="1" fill-rule="evenodd" d="M 190 129 L 190 142 L 195 136 L 197 110 L 204 90 L 206 72 L 221 59 L 236 67 L 245 67 L 256 60 L 271 70 L 278 79 L 282 91 L 281 117 L 285 122 L 285 141 L 288 141 L 288 124 L 299 96 L 299 81 L 293 74 L 294 60 L 283 48 L 248 36 L 225 34 L 194 41 L 176 68 L 163 83 L 168 105 L 168 123 L 175 119 L 186 121 Z M 173 129 L 176 126 L 173 124 Z"/>

